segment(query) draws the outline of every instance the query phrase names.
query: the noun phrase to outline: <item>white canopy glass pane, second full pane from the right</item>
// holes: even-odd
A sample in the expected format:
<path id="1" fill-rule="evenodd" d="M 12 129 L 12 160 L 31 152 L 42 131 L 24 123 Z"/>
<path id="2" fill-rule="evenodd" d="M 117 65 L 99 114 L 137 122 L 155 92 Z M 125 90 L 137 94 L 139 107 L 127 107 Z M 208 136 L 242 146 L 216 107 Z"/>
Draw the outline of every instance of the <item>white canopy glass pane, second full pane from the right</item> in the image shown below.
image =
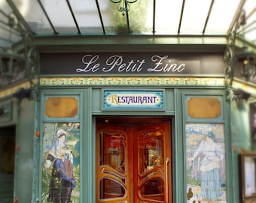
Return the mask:
<path id="1" fill-rule="evenodd" d="M 186 1 L 181 21 L 181 35 L 202 35 L 211 0 Z"/>

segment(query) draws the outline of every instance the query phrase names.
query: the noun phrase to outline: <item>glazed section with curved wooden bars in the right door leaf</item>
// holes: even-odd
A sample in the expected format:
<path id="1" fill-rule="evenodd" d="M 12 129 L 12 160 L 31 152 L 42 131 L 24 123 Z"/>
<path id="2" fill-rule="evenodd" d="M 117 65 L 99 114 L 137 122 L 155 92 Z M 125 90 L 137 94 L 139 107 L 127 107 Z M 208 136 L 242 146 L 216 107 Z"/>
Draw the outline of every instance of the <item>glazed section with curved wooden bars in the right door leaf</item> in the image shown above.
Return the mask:
<path id="1" fill-rule="evenodd" d="M 163 135 L 160 130 L 139 135 L 139 175 L 142 177 L 139 192 L 142 198 L 164 200 L 164 181 L 157 177 L 164 165 Z"/>

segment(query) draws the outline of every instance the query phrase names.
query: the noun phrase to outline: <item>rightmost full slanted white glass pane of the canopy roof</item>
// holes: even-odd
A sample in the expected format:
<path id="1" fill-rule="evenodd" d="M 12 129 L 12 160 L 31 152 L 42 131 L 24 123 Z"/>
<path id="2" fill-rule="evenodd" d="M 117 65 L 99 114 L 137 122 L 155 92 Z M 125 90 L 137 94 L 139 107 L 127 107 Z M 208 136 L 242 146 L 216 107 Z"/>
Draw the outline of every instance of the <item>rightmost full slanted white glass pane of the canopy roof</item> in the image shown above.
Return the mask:
<path id="1" fill-rule="evenodd" d="M 230 0 L 215 1 L 205 34 L 226 35 L 236 14 L 236 9 L 239 7 L 239 2 L 239 0 L 233 0 L 232 3 Z"/>

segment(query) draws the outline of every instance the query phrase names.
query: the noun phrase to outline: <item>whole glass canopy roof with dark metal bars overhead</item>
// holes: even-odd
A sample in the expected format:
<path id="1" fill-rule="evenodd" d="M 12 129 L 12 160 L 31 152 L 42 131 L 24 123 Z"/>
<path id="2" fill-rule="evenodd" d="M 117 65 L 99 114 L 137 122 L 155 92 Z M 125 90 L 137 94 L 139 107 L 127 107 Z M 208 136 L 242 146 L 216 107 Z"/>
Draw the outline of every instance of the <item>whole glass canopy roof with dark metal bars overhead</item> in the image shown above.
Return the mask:
<path id="1" fill-rule="evenodd" d="M 0 0 L 0 52 L 24 35 L 227 35 L 241 8 L 255 44 L 256 0 Z"/>

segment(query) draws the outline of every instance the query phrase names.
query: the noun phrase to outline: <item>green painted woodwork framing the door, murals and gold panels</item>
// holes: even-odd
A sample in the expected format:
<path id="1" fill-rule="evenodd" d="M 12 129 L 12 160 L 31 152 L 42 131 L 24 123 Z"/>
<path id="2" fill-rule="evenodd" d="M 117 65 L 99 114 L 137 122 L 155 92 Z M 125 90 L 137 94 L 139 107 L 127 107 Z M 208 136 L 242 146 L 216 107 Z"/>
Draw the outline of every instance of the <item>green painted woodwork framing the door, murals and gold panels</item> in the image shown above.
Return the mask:
<path id="1" fill-rule="evenodd" d="M 48 79 L 47 79 L 48 80 Z M 53 80 L 49 78 L 49 80 Z M 153 80 L 151 80 L 152 82 Z M 17 126 L 16 173 L 14 176 L 14 197 L 20 202 L 35 202 L 41 198 L 41 147 L 42 137 L 35 132 L 43 133 L 44 122 L 80 122 L 81 123 L 81 202 L 95 202 L 95 117 L 98 115 L 149 115 L 148 111 L 136 113 L 126 111 L 102 111 L 102 87 L 104 86 L 66 86 L 41 85 L 40 95 L 33 100 L 23 98 L 14 105 L 14 113 L 19 112 L 19 120 L 11 120 Z M 119 90 L 120 86 L 108 86 Z M 135 88 L 122 86 L 122 89 Z M 104 86 L 105 88 L 105 86 Z M 138 88 L 138 87 L 136 87 Z M 143 86 L 153 89 L 159 86 Z M 251 139 L 248 131 L 248 108 L 245 103 L 234 105 L 226 101 L 225 89 L 217 86 L 161 86 L 165 89 L 166 111 L 150 112 L 150 115 L 172 116 L 172 196 L 173 202 L 186 201 L 186 162 L 184 160 L 184 126 L 187 122 L 205 123 L 206 120 L 194 120 L 186 115 L 186 99 L 193 96 L 216 96 L 221 101 L 221 117 L 207 120 L 208 123 L 224 123 L 226 150 L 227 202 L 239 203 L 239 151 L 241 148 L 251 150 Z M 37 94 L 35 94 L 37 95 Z M 75 96 L 78 99 L 78 117 L 49 118 L 44 117 L 44 101 L 49 96 Z M 231 112 L 231 113 L 230 113 Z M 15 113 L 16 114 L 16 113 Z M 1 125 L 3 125 L 1 123 Z M 233 151 L 233 147 L 237 151 Z M 182 161 L 181 161 L 182 160 Z M 24 186 L 26 183 L 26 187 Z"/>

